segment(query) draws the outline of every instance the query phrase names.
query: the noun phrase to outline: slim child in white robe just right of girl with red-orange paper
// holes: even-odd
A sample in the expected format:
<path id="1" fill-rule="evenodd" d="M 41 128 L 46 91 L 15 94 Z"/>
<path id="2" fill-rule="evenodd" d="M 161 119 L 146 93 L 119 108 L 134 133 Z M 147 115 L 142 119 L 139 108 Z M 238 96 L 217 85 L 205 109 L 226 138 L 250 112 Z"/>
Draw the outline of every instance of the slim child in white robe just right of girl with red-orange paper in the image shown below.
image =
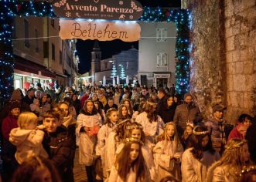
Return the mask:
<path id="1" fill-rule="evenodd" d="M 104 177 L 107 177 L 106 174 L 106 140 L 108 139 L 109 134 L 112 130 L 116 127 L 118 122 L 118 110 L 111 108 L 107 112 L 107 120 L 106 123 L 104 123 L 103 126 L 101 126 L 101 129 L 99 130 L 99 133 L 97 133 L 97 146 L 96 146 L 96 155 L 101 156 L 102 166 L 103 166 L 103 175 Z"/>

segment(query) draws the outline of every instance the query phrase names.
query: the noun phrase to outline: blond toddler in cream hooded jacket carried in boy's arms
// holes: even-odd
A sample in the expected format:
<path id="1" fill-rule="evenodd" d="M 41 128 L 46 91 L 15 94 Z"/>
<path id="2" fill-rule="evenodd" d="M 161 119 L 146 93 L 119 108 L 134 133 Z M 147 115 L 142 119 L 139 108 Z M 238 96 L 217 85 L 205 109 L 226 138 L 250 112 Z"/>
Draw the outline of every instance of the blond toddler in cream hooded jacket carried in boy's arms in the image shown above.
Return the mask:
<path id="1" fill-rule="evenodd" d="M 43 148 L 42 130 L 37 130 L 37 116 L 31 112 L 23 112 L 18 117 L 18 128 L 11 130 L 9 140 L 17 147 L 15 159 L 19 164 L 33 156 L 48 157 Z"/>

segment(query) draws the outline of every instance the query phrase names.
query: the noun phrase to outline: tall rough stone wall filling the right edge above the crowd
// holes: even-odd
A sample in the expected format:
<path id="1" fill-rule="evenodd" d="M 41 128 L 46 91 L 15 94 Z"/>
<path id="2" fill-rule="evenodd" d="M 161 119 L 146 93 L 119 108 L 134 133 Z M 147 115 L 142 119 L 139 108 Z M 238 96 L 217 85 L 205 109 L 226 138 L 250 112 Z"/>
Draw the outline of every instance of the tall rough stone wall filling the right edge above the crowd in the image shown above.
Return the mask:
<path id="1" fill-rule="evenodd" d="M 254 0 L 183 0 L 193 17 L 190 88 L 205 117 L 227 106 L 234 123 L 256 110 L 256 7 Z"/>

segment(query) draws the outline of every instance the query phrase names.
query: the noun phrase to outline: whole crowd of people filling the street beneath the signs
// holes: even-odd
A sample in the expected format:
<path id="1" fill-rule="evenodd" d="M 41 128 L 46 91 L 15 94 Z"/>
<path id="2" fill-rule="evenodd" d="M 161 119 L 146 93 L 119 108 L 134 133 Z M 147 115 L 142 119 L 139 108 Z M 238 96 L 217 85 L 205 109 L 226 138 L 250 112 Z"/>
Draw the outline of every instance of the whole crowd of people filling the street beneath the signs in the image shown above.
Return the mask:
<path id="1" fill-rule="evenodd" d="M 256 121 L 203 118 L 175 87 L 15 89 L 0 113 L 3 181 L 256 181 Z M 235 123 L 234 127 L 229 123 Z"/>

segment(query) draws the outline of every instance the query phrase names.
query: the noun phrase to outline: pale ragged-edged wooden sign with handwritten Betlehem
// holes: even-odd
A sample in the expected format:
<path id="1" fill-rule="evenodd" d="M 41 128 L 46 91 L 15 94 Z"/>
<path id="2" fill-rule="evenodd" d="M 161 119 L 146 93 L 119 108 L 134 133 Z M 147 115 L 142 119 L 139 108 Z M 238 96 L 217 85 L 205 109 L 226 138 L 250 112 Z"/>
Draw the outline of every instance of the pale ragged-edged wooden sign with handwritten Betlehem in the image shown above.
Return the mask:
<path id="1" fill-rule="evenodd" d="M 137 22 L 89 22 L 60 19 L 61 39 L 110 41 L 121 39 L 135 42 L 140 39 L 141 27 Z"/>

